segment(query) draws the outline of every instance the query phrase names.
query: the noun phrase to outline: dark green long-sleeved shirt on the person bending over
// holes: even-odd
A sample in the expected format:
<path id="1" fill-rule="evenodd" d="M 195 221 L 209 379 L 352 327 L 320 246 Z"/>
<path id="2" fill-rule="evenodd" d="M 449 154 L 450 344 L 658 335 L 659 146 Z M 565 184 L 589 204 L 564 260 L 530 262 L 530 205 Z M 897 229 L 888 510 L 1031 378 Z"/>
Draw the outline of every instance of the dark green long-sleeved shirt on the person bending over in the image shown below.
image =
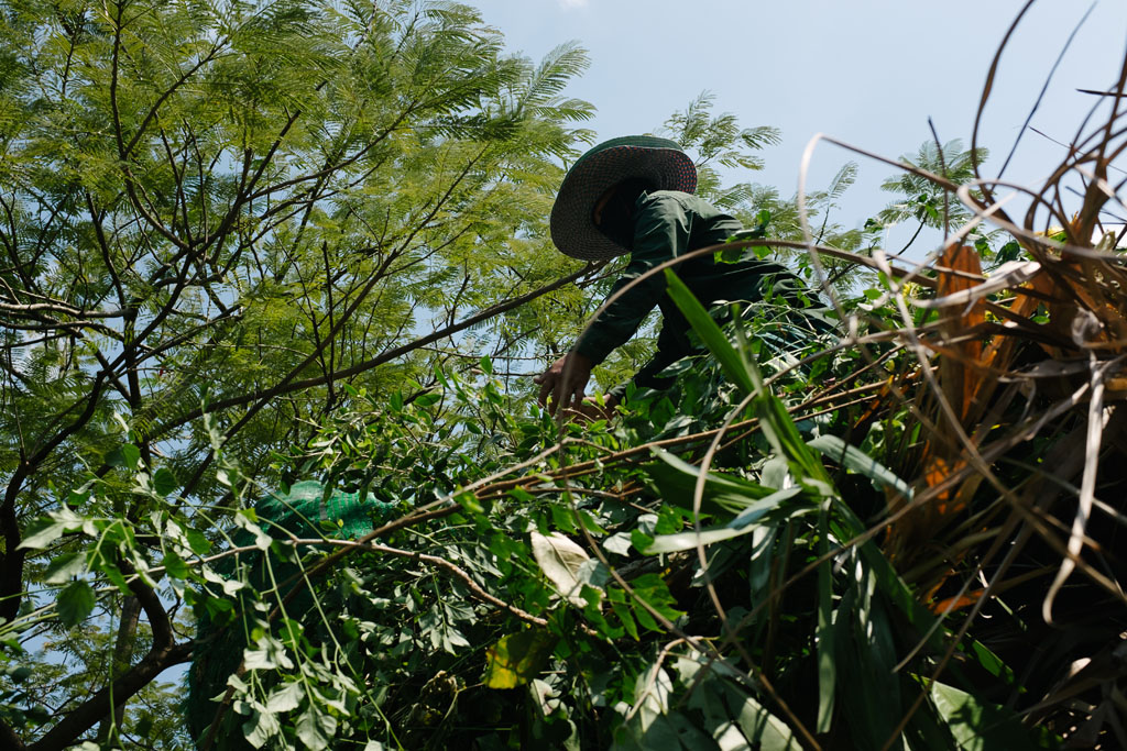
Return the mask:
<path id="1" fill-rule="evenodd" d="M 691 250 L 725 242 L 743 229 L 738 220 L 687 193 L 657 190 L 642 194 L 635 204 L 635 238 L 630 263 L 614 283 L 611 295 L 649 269 Z M 724 263 L 711 253 L 673 267 L 685 286 L 706 306 L 721 299 L 756 302 L 763 297 L 764 280 L 791 277 L 779 263 L 742 260 Z M 665 275 L 655 274 L 612 303 L 595 319 L 576 343 L 576 351 L 602 363 L 613 349 L 625 343 L 657 305 L 662 310 L 662 333 L 655 359 L 672 363 L 690 352 L 689 322 L 665 293 Z"/>

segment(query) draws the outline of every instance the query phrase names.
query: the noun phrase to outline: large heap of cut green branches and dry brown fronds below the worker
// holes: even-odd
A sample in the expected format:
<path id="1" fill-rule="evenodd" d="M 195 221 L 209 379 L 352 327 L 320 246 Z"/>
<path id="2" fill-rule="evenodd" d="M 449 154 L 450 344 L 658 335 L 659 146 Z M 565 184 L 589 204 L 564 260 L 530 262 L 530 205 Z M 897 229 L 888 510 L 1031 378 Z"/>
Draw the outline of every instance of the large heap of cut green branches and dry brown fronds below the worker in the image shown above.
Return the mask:
<path id="1" fill-rule="evenodd" d="M 900 164 L 973 214 L 933 259 L 810 239 L 877 272 L 833 331 L 671 276 L 709 354 L 616 421 L 514 414 L 488 360 L 336 415 L 294 476 L 399 516 L 273 544 L 199 748 L 1127 748 L 1125 83 L 1023 216 Z"/>

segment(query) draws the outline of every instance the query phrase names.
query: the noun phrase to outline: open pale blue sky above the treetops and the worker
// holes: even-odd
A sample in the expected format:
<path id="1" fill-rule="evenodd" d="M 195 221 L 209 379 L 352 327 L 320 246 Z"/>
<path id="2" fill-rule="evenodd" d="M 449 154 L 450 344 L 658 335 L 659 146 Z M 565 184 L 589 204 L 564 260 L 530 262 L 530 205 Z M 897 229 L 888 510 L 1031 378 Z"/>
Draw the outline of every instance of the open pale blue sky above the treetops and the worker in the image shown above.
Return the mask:
<path id="1" fill-rule="evenodd" d="M 994 52 L 1023 0 L 468 0 L 514 52 L 539 60 L 578 41 L 592 65 L 569 93 L 594 104 L 600 138 L 653 131 L 703 90 L 715 111 L 744 126 L 773 125 L 783 143 L 766 169 L 742 176 L 795 191 L 802 150 L 818 132 L 886 157 L 914 153 L 931 137 L 969 144 Z M 1086 0 L 1039 0 L 1002 59 L 980 133 L 996 171 Z M 1098 2 L 1057 70 L 1032 126 L 1072 140 L 1095 98 L 1075 89 L 1115 82 L 1127 42 L 1127 3 Z M 1038 185 L 1064 150 L 1027 132 L 1006 178 Z M 863 222 L 888 202 L 882 164 L 818 147 L 810 187 L 848 159 L 860 178 L 837 218 Z"/>

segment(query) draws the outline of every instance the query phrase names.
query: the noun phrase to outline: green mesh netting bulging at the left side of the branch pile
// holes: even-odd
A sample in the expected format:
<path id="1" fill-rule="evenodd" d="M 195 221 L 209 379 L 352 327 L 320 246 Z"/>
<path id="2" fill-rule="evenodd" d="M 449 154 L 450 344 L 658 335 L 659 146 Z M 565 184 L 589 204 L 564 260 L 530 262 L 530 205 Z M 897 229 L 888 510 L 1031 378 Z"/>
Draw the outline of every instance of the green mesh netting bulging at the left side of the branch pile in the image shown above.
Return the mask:
<path id="1" fill-rule="evenodd" d="M 290 492 L 273 493 L 255 506 L 259 526 L 272 537 L 279 539 L 290 535 L 298 537 L 319 537 L 326 535 L 321 525 L 331 522 L 335 530 L 327 536 L 355 539 L 374 529 L 373 521 L 382 521 L 396 511 L 394 503 L 376 501 L 369 497 L 361 500 L 358 493 L 346 493 L 332 490 L 326 494 L 326 489 L 318 482 L 305 481 L 295 483 Z M 250 545 L 254 537 L 246 530 L 232 535 L 237 547 Z M 251 588 L 263 591 L 270 588 L 270 578 L 263 565 L 261 552 L 240 553 L 223 558 L 216 571 L 230 576 L 237 567 L 246 567 L 247 581 Z M 285 581 L 299 573 L 298 565 L 284 563 L 276 557 L 272 560 L 274 580 Z M 240 597 L 237 608 L 241 610 L 245 600 Z M 295 598 L 289 606 L 292 613 L 304 614 L 312 607 L 308 593 Z M 220 619 L 222 622 L 222 619 Z M 211 615 L 199 619 L 196 629 L 196 643 L 188 671 L 188 697 L 185 703 L 188 728 L 198 742 L 215 716 L 219 705 L 213 701 L 227 689 L 227 679 L 242 661 L 242 651 L 247 646 L 247 634 L 242 619 L 238 616 L 225 626 L 218 626 Z M 233 751 L 250 749 L 242 741 L 240 725 L 246 718 L 232 712 L 227 713 L 223 726 L 216 735 L 216 750 Z"/>

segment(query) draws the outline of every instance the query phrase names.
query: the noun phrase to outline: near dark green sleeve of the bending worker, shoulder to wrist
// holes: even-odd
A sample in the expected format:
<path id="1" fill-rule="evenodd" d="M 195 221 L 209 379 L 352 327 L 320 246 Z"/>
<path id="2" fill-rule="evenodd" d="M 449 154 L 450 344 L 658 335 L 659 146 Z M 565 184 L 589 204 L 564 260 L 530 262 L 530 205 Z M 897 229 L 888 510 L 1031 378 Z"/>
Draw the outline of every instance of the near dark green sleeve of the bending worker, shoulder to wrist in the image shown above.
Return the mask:
<path id="1" fill-rule="evenodd" d="M 691 217 L 676 198 L 647 196 L 638 208 L 630 263 L 611 287 L 607 298 L 654 267 L 682 254 L 689 242 Z M 595 364 L 602 363 L 612 350 L 630 340 L 664 294 L 665 275 L 649 276 L 592 321 L 576 342 L 576 351 Z"/>

